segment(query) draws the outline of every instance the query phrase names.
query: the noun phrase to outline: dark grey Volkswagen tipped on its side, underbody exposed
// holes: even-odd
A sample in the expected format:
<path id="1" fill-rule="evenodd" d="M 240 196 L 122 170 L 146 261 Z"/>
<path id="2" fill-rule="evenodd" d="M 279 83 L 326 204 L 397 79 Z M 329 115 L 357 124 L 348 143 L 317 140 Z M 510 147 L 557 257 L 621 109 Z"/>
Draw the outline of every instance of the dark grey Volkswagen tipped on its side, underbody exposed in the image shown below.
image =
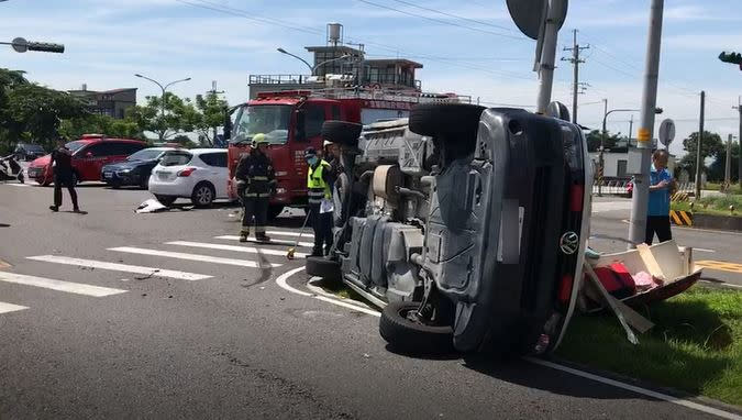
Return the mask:
<path id="1" fill-rule="evenodd" d="M 579 126 L 521 109 L 417 106 L 409 119 L 328 121 L 341 145 L 335 245 L 307 272 L 383 308 L 410 353 L 538 354 L 562 340 L 589 229 Z"/>

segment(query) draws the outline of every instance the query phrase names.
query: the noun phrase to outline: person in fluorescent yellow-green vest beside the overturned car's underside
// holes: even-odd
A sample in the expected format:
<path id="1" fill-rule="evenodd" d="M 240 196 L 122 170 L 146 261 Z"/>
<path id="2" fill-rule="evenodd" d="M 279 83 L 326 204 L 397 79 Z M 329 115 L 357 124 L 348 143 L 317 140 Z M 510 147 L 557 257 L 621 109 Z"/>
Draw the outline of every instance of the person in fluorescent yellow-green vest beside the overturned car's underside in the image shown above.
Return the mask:
<path id="1" fill-rule="evenodd" d="M 324 256 L 332 247 L 332 166 L 317 155 L 313 147 L 304 151 L 309 217 L 314 229 L 314 247 L 310 256 Z M 324 246 L 324 251 L 322 250 Z"/>

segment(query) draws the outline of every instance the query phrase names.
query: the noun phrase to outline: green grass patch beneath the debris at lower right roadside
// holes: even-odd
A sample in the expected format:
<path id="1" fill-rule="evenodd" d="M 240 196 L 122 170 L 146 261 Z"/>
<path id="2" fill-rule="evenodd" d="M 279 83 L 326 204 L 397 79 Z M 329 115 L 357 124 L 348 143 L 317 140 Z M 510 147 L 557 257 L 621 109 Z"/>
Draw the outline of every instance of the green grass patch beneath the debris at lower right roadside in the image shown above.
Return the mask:
<path id="1" fill-rule="evenodd" d="M 639 345 L 603 312 L 575 317 L 557 355 L 742 406 L 741 291 L 697 286 L 641 312 L 655 327 L 639 335 Z"/>

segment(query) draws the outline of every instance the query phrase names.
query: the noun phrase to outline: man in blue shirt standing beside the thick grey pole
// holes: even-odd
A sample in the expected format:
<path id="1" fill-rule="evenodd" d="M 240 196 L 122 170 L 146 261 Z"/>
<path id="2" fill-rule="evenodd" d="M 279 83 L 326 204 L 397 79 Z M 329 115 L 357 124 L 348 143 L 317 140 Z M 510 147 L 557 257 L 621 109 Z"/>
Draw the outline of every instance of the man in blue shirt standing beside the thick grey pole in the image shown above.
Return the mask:
<path id="1" fill-rule="evenodd" d="M 669 230 L 669 196 L 675 190 L 675 179 L 667 170 L 669 153 L 658 150 L 652 155 L 652 170 L 650 172 L 650 202 L 646 212 L 646 235 L 644 242 L 652 245 L 654 234 L 660 242 L 673 239 Z"/>

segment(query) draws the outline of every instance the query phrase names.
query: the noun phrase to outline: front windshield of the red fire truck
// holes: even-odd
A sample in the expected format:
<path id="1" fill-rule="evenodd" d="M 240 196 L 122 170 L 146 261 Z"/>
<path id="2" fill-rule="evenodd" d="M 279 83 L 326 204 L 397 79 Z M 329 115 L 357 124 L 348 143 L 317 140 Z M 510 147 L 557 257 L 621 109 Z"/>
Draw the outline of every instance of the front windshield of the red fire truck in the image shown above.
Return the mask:
<path id="1" fill-rule="evenodd" d="M 263 133 L 270 144 L 285 144 L 288 141 L 291 109 L 291 106 L 284 104 L 242 107 L 237 111 L 230 142 L 251 142 L 255 134 Z"/>

